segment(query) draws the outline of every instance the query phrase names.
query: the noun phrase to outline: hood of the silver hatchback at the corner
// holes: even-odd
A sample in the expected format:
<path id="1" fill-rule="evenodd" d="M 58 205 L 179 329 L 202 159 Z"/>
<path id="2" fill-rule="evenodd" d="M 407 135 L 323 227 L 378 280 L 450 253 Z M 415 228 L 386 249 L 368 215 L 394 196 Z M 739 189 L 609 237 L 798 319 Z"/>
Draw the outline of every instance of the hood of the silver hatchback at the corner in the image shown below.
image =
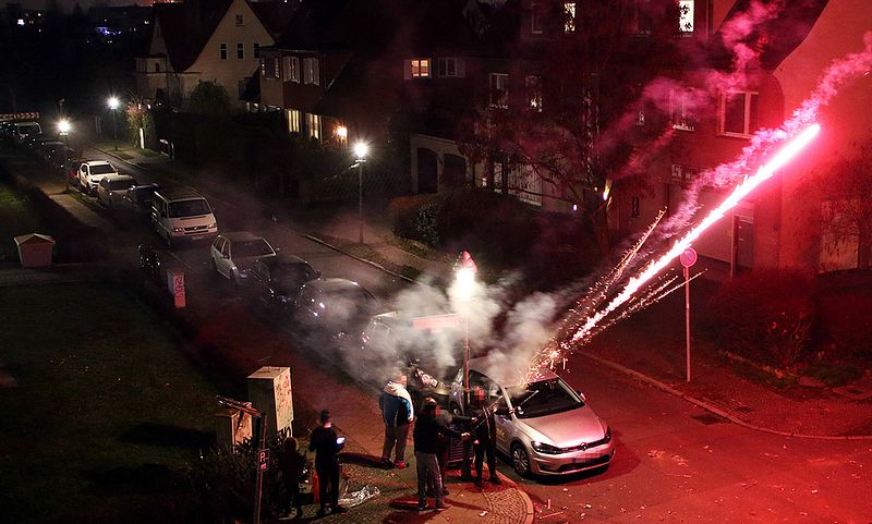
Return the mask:
<path id="1" fill-rule="evenodd" d="M 516 418 L 531 439 L 558 448 L 572 448 L 605 437 L 605 425 L 589 406 L 535 418 Z"/>

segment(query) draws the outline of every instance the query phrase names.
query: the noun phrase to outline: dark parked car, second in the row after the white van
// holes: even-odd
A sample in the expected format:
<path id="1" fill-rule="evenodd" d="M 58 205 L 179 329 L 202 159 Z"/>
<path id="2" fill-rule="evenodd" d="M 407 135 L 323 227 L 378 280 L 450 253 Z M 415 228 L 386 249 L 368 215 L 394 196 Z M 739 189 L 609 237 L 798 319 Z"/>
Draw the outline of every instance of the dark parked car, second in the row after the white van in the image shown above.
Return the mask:
<path id="1" fill-rule="evenodd" d="M 258 258 L 249 272 L 253 296 L 275 312 L 289 309 L 303 284 L 318 277 L 307 261 L 284 254 Z"/>

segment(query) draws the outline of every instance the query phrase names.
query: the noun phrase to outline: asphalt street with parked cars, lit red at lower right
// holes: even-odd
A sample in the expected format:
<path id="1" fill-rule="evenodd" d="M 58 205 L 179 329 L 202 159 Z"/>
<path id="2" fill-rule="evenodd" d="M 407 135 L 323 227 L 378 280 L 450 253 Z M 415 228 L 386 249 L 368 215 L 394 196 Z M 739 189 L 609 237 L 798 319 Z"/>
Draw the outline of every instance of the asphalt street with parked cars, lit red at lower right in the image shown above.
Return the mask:
<path id="1" fill-rule="evenodd" d="M 135 168 L 123 171 L 141 182 L 154 181 L 150 173 Z M 218 209 L 223 230 L 249 229 L 310 260 L 326 277 L 356 280 L 386 309 L 391 297 L 409 285 L 304 239 L 292 226 L 246 217 L 231 203 L 201 191 Z M 108 211 L 94 207 L 114 223 Z M 147 224 L 119 228 L 111 239 L 118 242 L 113 252 L 131 258 L 137 243 L 159 244 Z M 209 301 L 216 308 L 238 301 L 209 275 L 206 244 L 172 256 L 185 267 L 189 289 L 206 294 L 193 300 Z M 264 363 L 282 360 L 269 351 L 265 350 Z M 580 357 L 571 360 L 561 375 L 609 423 L 617 455 L 605 472 L 537 480 L 518 478 L 501 462 L 500 471 L 520 482 L 541 510 L 537 522 L 872 522 L 870 441 L 804 440 L 749 430 Z M 341 371 L 335 377 L 347 380 Z M 372 394 L 375 402 L 375 391 Z"/>

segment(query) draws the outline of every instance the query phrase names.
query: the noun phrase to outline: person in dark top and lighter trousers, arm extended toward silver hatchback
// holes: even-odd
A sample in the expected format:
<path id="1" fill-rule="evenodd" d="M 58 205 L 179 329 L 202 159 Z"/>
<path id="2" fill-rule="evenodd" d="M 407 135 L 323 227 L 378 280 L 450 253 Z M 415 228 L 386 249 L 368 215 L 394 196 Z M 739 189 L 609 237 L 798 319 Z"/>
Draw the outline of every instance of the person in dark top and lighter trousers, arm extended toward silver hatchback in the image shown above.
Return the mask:
<path id="1" fill-rule="evenodd" d="M 415 462 L 417 464 L 417 511 L 427 509 L 427 485 L 433 486 L 436 498 L 436 511 L 450 508 L 443 499 L 443 479 L 439 473 L 439 435 L 448 432 L 448 428 L 436 419 L 436 404 L 424 403 L 421 415 L 415 422 L 413 434 Z"/>

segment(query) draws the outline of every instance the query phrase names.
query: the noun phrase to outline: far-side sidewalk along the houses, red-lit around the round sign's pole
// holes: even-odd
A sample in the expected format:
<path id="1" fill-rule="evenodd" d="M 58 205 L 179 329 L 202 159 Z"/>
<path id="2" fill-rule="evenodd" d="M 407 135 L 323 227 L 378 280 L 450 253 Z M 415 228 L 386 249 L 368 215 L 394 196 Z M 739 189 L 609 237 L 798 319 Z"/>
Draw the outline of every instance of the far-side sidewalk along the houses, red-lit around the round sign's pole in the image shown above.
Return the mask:
<path id="1" fill-rule="evenodd" d="M 104 151 L 111 154 L 111 151 Z M 130 162 L 137 166 L 173 171 L 173 162 L 165 157 L 145 158 L 135 150 L 128 151 Z M 210 186 L 210 191 L 214 187 Z M 226 195 L 237 198 L 241 207 L 256 209 L 263 206 L 257 195 Z M 356 244 L 358 222 L 353 219 L 324 221 L 319 217 L 302 220 L 304 217 L 278 211 L 277 219 L 289 221 L 302 229 L 312 240 L 358 258 L 368 259 L 388 272 L 407 278 L 402 268 L 414 268 L 419 280 L 447 282 L 450 280 L 453 258 L 444 255 L 439 260 L 431 260 L 408 253 L 389 239 L 387 214 L 380 216 L 371 211 L 366 221 L 366 248 Z M 450 258 L 449 263 L 446 260 Z M 692 303 L 702 304 L 713 290 L 707 285 L 692 287 Z M 685 339 L 683 339 L 683 297 L 673 293 L 664 301 L 640 312 L 628 320 L 618 324 L 594 340 L 589 348 L 580 349 L 577 357 L 600 362 L 638 380 L 651 383 L 670 394 L 685 398 L 689 402 L 727 418 L 736 424 L 753 429 L 791 435 L 797 437 L 839 439 L 872 439 L 872 380 L 867 378 L 849 390 L 857 392 L 855 399 L 836 394 L 825 388 L 803 388 L 778 390 L 763 386 L 737 375 L 737 365 L 725 356 L 706 352 L 692 352 L 692 380 L 686 381 Z M 680 304 L 679 304 L 680 303 Z M 652 330 L 656 326 L 657 330 Z M 620 363 L 620 364 L 618 364 Z M 869 382 L 869 383 L 867 383 Z M 869 393 L 867 397 L 864 393 Z M 865 397 L 865 398 L 864 398 Z"/>

